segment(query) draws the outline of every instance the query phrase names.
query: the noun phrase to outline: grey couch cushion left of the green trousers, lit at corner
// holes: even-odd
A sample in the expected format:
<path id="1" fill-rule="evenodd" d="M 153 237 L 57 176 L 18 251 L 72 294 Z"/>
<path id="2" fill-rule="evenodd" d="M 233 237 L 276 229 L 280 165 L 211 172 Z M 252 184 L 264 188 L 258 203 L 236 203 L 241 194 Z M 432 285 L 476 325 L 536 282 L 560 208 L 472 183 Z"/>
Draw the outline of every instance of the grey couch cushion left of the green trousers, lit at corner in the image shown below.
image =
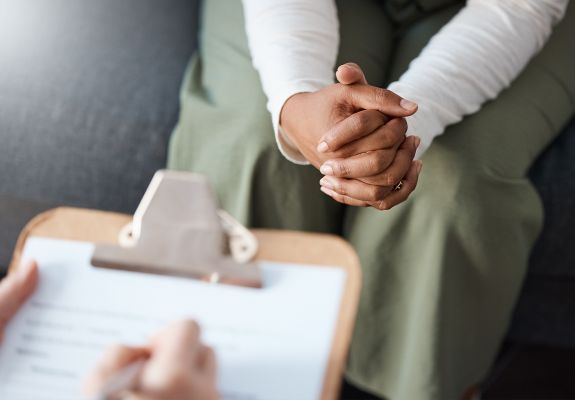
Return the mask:
<path id="1" fill-rule="evenodd" d="M 3 0 L 0 193 L 132 212 L 164 167 L 187 0 Z"/>

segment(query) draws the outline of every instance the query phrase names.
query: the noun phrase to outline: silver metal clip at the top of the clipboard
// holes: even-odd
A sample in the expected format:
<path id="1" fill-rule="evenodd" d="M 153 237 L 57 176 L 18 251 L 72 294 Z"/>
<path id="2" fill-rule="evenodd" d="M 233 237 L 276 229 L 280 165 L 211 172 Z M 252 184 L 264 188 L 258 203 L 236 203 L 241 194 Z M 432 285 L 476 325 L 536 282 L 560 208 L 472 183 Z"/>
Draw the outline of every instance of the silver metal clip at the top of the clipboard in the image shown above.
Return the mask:
<path id="1" fill-rule="evenodd" d="M 158 171 L 119 245 L 97 245 L 92 265 L 261 287 L 256 252 L 255 236 L 218 210 L 203 176 Z"/>

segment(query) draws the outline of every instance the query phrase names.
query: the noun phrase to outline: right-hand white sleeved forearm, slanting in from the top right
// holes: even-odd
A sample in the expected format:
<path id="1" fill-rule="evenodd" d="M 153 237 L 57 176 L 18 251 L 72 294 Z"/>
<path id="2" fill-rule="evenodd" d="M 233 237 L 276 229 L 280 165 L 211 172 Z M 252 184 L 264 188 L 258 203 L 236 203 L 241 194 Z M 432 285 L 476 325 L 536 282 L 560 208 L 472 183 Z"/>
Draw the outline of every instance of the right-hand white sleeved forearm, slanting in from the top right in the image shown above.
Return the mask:
<path id="1" fill-rule="evenodd" d="M 389 89 L 416 101 L 408 133 L 434 137 L 477 112 L 519 75 L 541 49 L 567 0 L 470 0 Z"/>

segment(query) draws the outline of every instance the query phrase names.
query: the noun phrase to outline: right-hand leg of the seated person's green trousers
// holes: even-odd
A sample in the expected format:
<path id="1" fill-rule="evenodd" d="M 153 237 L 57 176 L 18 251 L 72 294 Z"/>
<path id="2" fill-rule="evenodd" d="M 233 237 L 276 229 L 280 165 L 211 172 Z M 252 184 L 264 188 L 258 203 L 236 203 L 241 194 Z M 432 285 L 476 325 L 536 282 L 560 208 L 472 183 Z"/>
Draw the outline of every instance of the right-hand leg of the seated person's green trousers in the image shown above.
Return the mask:
<path id="1" fill-rule="evenodd" d="M 392 77 L 456 10 L 406 31 Z M 410 200 L 387 213 L 348 210 L 345 236 L 372 266 L 364 269 L 352 382 L 398 398 L 453 398 L 486 373 L 541 228 L 527 169 L 573 114 L 575 66 L 563 56 L 572 26 L 564 23 L 495 101 L 436 139 Z M 374 325 L 381 332 L 372 334 Z M 425 366 L 428 374 L 415 377 Z M 412 371 L 409 382 L 402 369 Z"/>

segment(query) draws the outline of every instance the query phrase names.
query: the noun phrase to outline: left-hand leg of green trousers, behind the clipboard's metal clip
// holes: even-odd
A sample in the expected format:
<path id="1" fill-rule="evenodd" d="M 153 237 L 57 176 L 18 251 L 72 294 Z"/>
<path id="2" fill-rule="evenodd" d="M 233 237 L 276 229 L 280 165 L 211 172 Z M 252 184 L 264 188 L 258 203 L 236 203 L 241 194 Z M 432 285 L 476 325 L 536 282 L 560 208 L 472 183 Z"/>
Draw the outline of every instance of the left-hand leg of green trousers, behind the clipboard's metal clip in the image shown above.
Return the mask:
<path id="1" fill-rule="evenodd" d="M 319 172 L 277 150 L 241 7 L 203 7 L 168 166 L 207 175 L 222 207 L 250 226 L 339 233 L 343 207 L 319 191 Z"/>

